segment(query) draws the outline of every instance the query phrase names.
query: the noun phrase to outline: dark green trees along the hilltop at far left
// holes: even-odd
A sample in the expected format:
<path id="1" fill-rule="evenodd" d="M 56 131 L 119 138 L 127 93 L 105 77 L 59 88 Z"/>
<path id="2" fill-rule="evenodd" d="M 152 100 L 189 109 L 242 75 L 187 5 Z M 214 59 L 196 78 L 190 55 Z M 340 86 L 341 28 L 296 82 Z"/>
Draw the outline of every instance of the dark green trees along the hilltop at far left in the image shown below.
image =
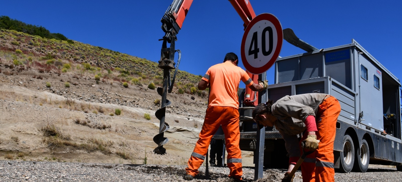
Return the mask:
<path id="1" fill-rule="evenodd" d="M 43 38 L 54 38 L 57 40 L 68 40 L 66 36 L 59 33 L 50 33 L 43 26 L 36 26 L 31 24 L 26 24 L 24 22 L 13 20 L 8 16 L 0 16 L 0 28 L 7 30 L 16 30 L 18 32 L 24 32 L 26 34 L 38 35 Z"/>

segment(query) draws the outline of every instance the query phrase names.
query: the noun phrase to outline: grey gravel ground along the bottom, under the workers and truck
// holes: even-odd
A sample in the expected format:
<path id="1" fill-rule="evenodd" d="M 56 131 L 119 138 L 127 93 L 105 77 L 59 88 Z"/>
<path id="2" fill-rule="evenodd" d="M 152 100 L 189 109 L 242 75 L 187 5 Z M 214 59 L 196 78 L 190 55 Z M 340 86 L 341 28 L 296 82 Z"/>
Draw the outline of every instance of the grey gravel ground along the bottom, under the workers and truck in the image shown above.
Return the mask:
<path id="1" fill-rule="evenodd" d="M 38 182 L 176 182 L 184 181 L 185 166 L 139 165 L 139 164 L 89 164 L 69 162 L 20 162 L 0 161 L 0 182 L 38 181 Z M 210 180 L 205 179 L 205 167 L 194 182 L 232 182 L 227 176 L 228 168 L 209 167 Z M 280 182 L 285 170 L 266 169 L 264 178 L 258 182 Z M 254 178 L 254 168 L 243 168 L 244 181 Z M 297 172 L 294 182 L 301 182 Z M 335 181 L 402 181 L 402 172 L 396 168 L 371 168 L 366 173 L 336 173 Z"/>

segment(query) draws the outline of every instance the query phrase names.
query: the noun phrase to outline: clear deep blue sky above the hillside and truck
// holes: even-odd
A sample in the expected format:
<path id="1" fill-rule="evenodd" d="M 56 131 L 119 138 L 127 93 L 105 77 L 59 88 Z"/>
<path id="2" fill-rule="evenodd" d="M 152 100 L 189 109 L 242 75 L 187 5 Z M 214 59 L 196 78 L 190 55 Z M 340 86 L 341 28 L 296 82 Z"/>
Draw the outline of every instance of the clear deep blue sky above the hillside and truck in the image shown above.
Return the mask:
<path id="1" fill-rule="evenodd" d="M 250 0 L 256 14 L 274 14 L 284 28 L 316 48 L 330 48 L 355 39 L 396 77 L 402 78 L 402 1 L 268 1 Z M 53 33 L 94 46 L 158 61 L 164 35 L 161 22 L 172 0 L 69 0 L 2 2 L 0 15 L 43 26 Z M 205 74 L 227 52 L 240 58 L 243 22 L 228 0 L 194 0 L 176 49 L 180 70 Z M 283 41 L 280 56 L 304 51 Z M 239 64 L 242 68 L 242 64 Z M 273 84 L 273 68 L 268 71 Z"/>

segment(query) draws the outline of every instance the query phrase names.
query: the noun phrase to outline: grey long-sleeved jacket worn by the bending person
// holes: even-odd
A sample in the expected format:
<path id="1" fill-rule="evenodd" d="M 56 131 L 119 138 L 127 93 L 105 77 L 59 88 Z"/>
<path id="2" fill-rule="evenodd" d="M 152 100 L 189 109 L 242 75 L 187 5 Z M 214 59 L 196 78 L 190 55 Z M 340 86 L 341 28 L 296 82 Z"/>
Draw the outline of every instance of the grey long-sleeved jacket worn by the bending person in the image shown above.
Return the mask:
<path id="1" fill-rule="evenodd" d="M 278 119 L 275 122 L 275 128 L 279 130 L 285 140 L 288 156 L 300 156 L 297 134 L 306 130 L 304 121 L 309 115 L 316 116 L 318 106 L 327 95 L 312 93 L 285 96 L 272 105 L 272 115 Z"/>

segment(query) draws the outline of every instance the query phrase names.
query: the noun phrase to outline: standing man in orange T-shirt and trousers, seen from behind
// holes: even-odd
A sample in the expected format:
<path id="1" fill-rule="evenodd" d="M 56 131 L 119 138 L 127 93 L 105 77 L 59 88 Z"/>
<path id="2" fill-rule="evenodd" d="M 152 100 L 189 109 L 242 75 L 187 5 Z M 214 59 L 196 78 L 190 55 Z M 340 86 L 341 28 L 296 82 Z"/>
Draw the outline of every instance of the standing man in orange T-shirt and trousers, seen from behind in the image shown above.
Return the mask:
<path id="1" fill-rule="evenodd" d="M 220 125 L 225 134 L 229 177 L 242 180 L 242 154 L 239 148 L 239 102 L 237 90 L 242 80 L 253 91 L 267 89 L 267 81 L 255 84 L 246 71 L 238 67 L 236 54 L 226 54 L 224 62 L 211 66 L 198 84 L 199 90 L 209 88 L 208 108 L 204 124 L 186 168 L 185 180 L 192 180 L 205 160 L 209 142 Z"/>

